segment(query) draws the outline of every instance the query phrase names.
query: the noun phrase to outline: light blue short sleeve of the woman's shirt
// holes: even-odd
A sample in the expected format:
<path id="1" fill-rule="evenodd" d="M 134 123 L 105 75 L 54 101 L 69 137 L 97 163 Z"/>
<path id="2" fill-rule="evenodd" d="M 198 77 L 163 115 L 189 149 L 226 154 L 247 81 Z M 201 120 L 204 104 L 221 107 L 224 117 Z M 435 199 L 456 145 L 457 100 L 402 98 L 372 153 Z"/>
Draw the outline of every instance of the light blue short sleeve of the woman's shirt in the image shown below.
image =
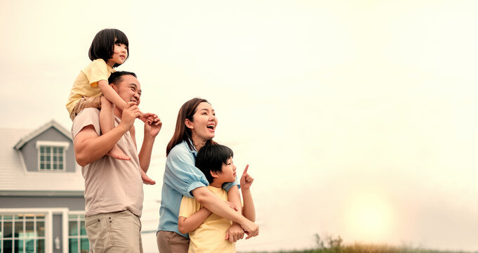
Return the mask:
<path id="1" fill-rule="evenodd" d="M 176 145 L 168 155 L 164 171 L 164 183 L 186 197 L 193 197 L 191 191 L 208 186 L 206 176 L 194 166 L 194 156 L 186 145 Z"/>

